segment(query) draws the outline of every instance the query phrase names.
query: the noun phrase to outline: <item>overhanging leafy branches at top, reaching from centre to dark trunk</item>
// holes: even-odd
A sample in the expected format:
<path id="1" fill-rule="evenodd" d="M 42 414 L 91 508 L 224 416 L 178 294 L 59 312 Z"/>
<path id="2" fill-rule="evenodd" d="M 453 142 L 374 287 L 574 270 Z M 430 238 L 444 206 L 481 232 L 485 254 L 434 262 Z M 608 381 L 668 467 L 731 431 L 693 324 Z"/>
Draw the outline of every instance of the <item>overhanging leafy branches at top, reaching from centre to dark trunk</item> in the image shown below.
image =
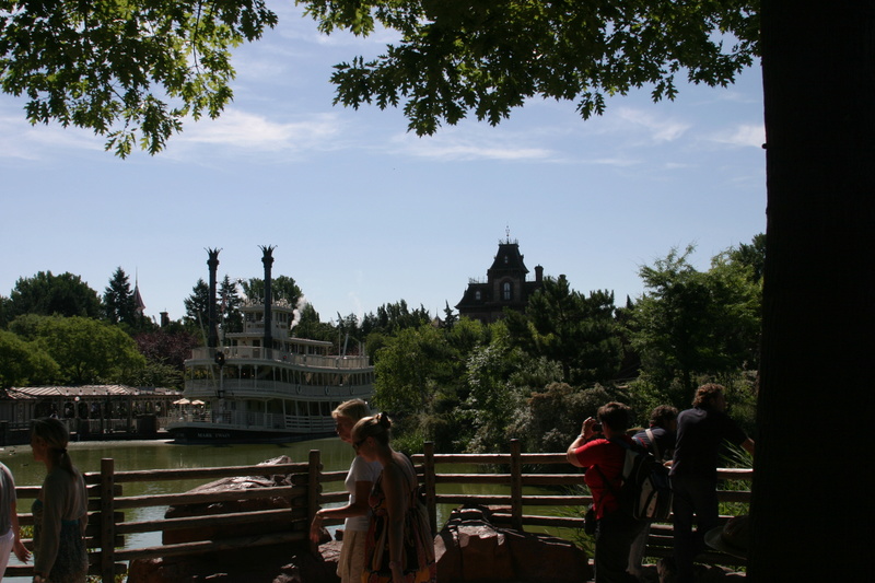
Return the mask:
<path id="1" fill-rule="evenodd" d="M 324 33 L 400 33 L 380 57 L 336 66 L 335 103 L 402 105 L 433 133 L 472 113 L 491 125 L 539 95 L 575 101 L 586 119 L 605 97 L 649 85 L 674 98 L 677 78 L 726 85 L 758 50 L 757 2 L 305 0 Z"/>

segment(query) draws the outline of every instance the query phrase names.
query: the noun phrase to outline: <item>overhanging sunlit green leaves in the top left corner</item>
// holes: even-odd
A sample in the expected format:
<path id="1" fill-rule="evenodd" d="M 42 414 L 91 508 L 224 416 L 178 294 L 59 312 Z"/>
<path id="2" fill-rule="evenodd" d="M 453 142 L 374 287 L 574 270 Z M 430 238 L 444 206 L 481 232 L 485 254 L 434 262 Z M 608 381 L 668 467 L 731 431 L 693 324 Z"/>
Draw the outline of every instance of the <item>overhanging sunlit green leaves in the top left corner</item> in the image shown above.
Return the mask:
<path id="1" fill-rule="evenodd" d="M 27 100 L 32 124 L 107 136 L 154 154 L 183 119 L 231 101 L 231 49 L 277 16 L 264 0 L 0 2 L 0 89 Z"/>

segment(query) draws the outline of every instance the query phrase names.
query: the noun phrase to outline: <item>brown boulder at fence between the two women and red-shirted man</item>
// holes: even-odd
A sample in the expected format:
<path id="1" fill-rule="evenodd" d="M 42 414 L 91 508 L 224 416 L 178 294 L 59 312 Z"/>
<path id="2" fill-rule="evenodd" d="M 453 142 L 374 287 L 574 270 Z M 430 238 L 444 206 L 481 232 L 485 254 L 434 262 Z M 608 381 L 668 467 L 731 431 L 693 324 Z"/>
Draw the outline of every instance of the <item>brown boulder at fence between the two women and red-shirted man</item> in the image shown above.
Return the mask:
<path id="1" fill-rule="evenodd" d="M 441 582 L 581 583 L 593 576 L 586 553 L 548 535 L 493 525 L 487 506 L 453 511 L 434 541 Z"/>

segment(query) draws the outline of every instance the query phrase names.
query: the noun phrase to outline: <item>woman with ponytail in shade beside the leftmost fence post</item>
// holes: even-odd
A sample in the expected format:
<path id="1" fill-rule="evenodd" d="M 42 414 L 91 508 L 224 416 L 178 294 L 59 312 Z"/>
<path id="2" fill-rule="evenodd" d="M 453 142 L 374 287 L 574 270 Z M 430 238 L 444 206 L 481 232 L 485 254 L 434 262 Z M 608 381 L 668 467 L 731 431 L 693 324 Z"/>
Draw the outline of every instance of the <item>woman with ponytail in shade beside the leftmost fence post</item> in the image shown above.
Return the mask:
<path id="1" fill-rule="evenodd" d="M 88 492 L 73 466 L 67 444 L 70 434 L 58 419 L 35 419 L 31 428 L 34 459 L 46 465 L 46 478 L 33 503 L 34 583 L 84 583 Z"/>

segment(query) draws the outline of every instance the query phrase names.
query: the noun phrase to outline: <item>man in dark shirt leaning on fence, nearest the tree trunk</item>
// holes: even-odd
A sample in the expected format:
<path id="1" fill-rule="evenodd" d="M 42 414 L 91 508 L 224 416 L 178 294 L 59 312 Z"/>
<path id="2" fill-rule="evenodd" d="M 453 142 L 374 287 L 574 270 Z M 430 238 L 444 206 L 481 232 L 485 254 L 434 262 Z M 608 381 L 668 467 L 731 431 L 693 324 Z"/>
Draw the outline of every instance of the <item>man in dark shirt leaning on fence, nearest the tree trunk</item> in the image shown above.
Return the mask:
<path id="1" fill-rule="evenodd" d="M 704 550 L 704 533 L 718 526 L 718 459 L 723 441 L 751 455 L 754 441 L 726 415 L 724 388 L 708 383 L 696 390 L 692 408 L 677 417 L 672 464 L 675 569 L 678 583 L 693 581 L 693 561 Z M 693 516 L 696 532 L 692 530 Z"/>

